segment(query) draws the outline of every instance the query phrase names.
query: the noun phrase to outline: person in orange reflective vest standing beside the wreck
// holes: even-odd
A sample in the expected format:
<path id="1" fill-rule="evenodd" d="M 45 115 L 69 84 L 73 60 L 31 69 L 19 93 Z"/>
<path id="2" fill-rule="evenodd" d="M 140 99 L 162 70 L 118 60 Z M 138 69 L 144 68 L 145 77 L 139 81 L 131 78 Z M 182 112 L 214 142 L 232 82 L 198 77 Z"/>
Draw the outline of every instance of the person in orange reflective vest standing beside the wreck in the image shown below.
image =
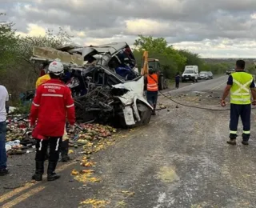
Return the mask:
<path id="1" fill-rule="evenodd" d="M 149 68 L 149 74 L 146 76 L 146 99 L 153 107 L 152 115 L 155 115 L 155 109 L 158 102 L 158 74 L 153 68 Z"/>

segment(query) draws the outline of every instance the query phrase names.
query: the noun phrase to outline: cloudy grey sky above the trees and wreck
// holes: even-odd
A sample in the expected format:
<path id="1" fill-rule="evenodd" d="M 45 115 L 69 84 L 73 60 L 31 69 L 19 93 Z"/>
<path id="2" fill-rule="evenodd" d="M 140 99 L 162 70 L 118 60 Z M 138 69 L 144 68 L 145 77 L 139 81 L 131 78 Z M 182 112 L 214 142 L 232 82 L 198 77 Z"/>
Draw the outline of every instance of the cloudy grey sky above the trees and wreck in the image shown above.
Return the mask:
<path id="1" fill-rule="evenodd" d="M 256 57 L 256 0 L 0 0 L 0 12 L 19 34 L 61 26 L 84 46 L 143 34 L 202 57 Z"/>

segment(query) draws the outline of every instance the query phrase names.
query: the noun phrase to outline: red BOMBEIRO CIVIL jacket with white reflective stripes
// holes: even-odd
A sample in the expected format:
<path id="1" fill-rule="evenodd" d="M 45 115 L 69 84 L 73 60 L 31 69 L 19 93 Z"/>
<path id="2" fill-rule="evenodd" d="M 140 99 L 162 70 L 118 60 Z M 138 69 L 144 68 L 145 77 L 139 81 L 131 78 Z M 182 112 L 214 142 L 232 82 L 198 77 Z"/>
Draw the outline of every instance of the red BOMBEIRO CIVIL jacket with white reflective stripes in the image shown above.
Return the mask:
<path id="1" fill-rule="evenodd" d="M 32 136 L 38 139 L 62 137 L 66 117 L 70 125 L 74 125 L 74 100 L 70 89 L 58 79 L 50 79 L 38 86 L 30 110 L 31 126 L 38 118 Z"/>

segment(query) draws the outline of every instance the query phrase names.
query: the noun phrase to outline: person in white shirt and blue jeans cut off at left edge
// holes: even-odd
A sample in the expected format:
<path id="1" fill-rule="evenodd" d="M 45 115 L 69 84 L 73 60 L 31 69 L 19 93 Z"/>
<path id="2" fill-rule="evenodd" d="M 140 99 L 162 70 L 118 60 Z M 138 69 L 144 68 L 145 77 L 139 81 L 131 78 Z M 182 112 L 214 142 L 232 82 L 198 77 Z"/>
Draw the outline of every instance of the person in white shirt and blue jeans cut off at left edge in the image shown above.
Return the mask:
<path id="1" fill-rule="evenodd" d="M 5 86 L 0 86 L 0 176 L 9 173 L 7 170 L 6 154 L 6 102 L 9 101 L 9 94 Z"/>

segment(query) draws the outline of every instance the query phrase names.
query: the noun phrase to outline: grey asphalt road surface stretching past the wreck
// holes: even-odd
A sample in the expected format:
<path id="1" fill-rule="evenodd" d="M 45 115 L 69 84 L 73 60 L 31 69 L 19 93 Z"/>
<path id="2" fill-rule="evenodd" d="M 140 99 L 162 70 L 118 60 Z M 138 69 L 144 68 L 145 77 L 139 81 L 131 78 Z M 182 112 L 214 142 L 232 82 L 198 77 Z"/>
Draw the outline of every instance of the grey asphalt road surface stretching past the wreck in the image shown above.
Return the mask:
<path id="1" fill-rule="evenodd" d="M 226 78 L 196 83 L 171 94 L 188 94 L 177 99 L 198 104 L 191 91 L 204 92 L 205 98 L 221 94 Z M 218 98 L 209 99 L 218 102 Z M 73 161 L 59 164 L 62 178 L 58 181 L 33 184 L 29 180 L 34 154 L 10 158 L 13 174 L 1 178 L 0 206 L 70 208 L 95 199 L 106 205 L 83 207 L 256 207 L 254 122 L 250 146 L 228 146 L 229 111 L 176 108 L 163 97 L 159 102 L 167 109 L 158 111 L 148 126 L 126 132 L 114 145 L 92 155 L 97 163 L 90 169 L 100 182 L 74 180 L 71 170 L 85 168 Z M 255 118 L 253 110 L 252 121 Z M 25 186 L 15 188 L 22 182 Z"/>

